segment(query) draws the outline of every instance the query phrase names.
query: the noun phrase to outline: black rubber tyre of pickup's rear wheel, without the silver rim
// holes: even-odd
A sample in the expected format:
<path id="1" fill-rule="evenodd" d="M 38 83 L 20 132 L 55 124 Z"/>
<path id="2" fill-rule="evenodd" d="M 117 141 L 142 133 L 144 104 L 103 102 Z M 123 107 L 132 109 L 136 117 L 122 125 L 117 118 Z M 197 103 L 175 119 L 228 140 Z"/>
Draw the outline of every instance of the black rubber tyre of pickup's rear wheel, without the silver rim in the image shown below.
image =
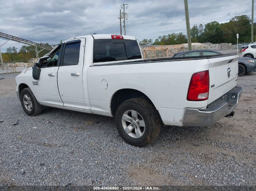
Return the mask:
<path id="1" fill-rule="evenodd" d="M 145 122 L 144 133 L 139 138 L 134 138 L 128 135 L 123 127 L 122 117 L 123 114 L 125 114 L 125 112 L 128 110 L 134 110 L 138 112 L 138 116 L 141 116 Z M 151 103 L 142 98 L 133 98 L 121 103 L 115 113 L 115 122 L 117 130 L 125 142 L 136 147 L 143 147 L 148 143 L 153 142 L 158 137 L 161 130 L 161 121 L 157 110 Z"/>

